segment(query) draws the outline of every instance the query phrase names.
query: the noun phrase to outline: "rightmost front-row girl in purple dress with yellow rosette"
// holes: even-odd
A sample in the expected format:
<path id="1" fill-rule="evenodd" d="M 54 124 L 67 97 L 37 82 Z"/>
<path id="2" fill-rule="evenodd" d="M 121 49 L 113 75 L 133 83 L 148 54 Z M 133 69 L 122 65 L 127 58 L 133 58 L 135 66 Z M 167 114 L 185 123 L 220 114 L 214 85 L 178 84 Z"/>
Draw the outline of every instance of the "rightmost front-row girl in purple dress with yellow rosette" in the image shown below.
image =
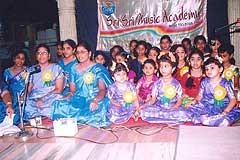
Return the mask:
<path id="1" fill-rule="evenodd" d="M 221 77 L 223 65 L 217 59 L 209 58 L 204 68 L 207 78 L 202 80 L 199 94 L 191 102 L 192 121 L 208 126 L 228 126 L 240 114 L 240 108 L 235 108 L 232 85 Z"/>

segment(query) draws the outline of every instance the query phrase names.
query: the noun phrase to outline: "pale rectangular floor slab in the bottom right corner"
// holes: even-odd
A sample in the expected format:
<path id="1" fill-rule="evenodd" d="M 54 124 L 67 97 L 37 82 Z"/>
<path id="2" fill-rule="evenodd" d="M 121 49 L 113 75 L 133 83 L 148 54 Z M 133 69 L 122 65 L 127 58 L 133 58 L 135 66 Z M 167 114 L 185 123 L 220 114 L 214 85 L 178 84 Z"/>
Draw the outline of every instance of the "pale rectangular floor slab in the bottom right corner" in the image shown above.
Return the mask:
<path id="1" fill-rule="evenodd" d="M 180 126 L 176 160 L 239 160 L 240 127 Z"/>

